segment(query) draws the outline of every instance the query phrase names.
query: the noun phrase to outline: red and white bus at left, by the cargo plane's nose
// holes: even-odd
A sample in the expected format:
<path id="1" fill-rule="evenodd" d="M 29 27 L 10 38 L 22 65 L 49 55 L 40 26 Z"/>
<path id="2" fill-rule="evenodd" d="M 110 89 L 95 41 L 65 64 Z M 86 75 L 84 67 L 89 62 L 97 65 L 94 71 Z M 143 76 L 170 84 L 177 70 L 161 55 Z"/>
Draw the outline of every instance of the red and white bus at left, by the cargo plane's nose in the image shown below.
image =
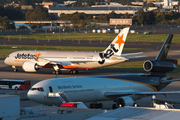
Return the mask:
<path id="1" fill-rule="evenodd" d="M 30 89 L 31 82 L 28 80 L 0 79 L 0 89 Z"/>

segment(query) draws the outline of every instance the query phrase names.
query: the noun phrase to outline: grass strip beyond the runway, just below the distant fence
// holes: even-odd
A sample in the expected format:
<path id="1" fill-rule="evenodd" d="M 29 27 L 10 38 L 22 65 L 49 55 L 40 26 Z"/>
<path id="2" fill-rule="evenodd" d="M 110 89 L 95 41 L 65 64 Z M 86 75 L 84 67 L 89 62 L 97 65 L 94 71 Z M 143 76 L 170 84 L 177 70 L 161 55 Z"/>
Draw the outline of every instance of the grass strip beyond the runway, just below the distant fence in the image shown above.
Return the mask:
<path id="1" fill-rule="evenodd" d="M 0 35 L 0 38 L 19 39 L 20 35 Z M 21 35 L 21 39 L 39 39 L 39 40 L 103 40 L 112 41 L 117 36 L 116 33 L 47 33 L 47 34 L 27 34 Z M 163 42 L 168 34 L 128 34 L 128 42 Z M 180 34 L 175 34 L 174 43 L 180 43 Z"/>

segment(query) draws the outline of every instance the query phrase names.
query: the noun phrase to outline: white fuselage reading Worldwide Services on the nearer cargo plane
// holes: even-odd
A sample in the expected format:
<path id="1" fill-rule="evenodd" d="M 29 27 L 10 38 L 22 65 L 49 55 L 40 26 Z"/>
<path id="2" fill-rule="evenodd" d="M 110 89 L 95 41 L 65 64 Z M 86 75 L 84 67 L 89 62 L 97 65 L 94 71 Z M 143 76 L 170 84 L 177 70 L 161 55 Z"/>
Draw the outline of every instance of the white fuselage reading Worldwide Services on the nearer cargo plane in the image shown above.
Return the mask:
<path id="1" fill-rule="evenodd" d="M 114 75 L 117 76 L 117 75 Z M 158 82 L 158 81 L 155 81 Z M 52 87 L 52 91 L 49 90 Z M 35 90 L 33 90 L 35 88 Z M 43 88 L 44 91 L 38 91 Z M 42 104 L 60 104 L 57 98 L 49 98 L 48 94 L 63 93 L 70 102 L 96 102 L 110 100 L 105 92 L 150 92 L 154 91 L 148 85 L 132 82 L 125 79 L 101 78 L 101 77 L 73 77 L 54 78 L 41 81 L 28 92 L 28 97 Z"/>

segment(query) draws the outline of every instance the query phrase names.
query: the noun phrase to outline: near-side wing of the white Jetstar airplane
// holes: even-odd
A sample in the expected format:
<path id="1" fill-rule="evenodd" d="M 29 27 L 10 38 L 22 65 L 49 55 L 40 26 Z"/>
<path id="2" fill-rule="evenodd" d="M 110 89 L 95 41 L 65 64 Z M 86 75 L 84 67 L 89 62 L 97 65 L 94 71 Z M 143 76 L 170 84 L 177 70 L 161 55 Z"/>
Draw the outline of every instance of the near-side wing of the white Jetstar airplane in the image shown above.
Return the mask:
<path id="1" fill-rule="evenodd" d="M 57 65 L 57 64 L 59 64 L 59 65 L 71 65 L 72 64 L 70 61 L 50 61 L 50 60 L 44 59 L 42 57 L 37 57 L 37 56 L 34 56 L 33 58 L 40 65 L 46 65 L 48 63 L 49 64 L 55 64 L 55 65 Z"/>

